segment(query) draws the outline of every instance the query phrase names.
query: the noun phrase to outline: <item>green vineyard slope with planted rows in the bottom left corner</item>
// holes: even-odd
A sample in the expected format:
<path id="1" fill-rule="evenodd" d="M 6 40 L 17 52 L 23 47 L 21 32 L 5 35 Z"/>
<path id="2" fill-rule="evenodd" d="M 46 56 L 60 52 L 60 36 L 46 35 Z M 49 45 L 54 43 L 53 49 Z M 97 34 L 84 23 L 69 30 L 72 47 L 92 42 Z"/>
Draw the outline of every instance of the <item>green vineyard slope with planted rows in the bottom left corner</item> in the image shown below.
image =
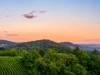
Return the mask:
<path id="1" fill-rule="evenodd" d="M 28 75 L 20 57 L 0 57 L 0 75 Z"/>

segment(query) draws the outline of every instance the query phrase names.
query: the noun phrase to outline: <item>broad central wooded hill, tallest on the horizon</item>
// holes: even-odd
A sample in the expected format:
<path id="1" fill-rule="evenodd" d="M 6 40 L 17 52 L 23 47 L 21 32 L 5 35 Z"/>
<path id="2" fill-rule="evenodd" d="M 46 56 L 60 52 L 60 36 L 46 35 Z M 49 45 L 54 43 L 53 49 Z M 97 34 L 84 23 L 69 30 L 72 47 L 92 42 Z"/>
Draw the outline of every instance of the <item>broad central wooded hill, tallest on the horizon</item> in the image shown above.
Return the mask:
<path id="1" fill-rule="evenodd" d="M 71 48 L 63 46 L 57 42 L 51 41 L 51 40 L 36 40 L 36 41 L 30 41 L 30 42 L 23 42 L 23 43 L 18 43 L 14 45 L 14 47 L 18 49 L 27 49 L 27 50 L 47 50 L 48 48 L 53 48 L 61 52 L 61 50 L 66 51 L 66 50 L 71 50 Z"/>

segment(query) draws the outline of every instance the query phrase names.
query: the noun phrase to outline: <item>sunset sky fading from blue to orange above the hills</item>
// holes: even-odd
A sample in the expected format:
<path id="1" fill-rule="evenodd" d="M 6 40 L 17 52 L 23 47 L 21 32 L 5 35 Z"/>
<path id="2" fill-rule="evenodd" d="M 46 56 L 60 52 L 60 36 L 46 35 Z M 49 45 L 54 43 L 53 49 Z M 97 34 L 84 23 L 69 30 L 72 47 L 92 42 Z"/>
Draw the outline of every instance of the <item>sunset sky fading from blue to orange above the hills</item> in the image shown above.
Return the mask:
<path id="1" fill-rule="evenodd" d="M 0 0 L 0 39 L 100 44 L 100 0 Z"/>

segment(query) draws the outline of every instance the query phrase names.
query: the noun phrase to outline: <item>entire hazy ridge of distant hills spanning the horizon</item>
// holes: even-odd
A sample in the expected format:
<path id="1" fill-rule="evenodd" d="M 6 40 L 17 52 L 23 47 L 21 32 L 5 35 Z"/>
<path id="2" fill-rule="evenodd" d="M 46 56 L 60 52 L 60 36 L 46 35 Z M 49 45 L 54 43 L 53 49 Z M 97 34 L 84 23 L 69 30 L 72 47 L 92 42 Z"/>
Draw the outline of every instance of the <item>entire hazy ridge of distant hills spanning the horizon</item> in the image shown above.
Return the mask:
<path id="1" fill-rule="evenodd" d="M 70 47 L 75 48 L 79 47 L 83 50 L 94 50 L 95 48 L 97 50 L 100 50 L 100 44 L 74 44 L 71 42 L 54 42 L 51 40 L 43 39 L 43 40 L 35 40 L 35 41 L 29 41 L 29 42 L 22 42 L 22 43 L 16 43 L 8 40 L 0 40 L 0 47 L 1 46 L 8 46 L 8 47 L 17 47 L 17 48 L 58 48 L 58 47 Z"/>

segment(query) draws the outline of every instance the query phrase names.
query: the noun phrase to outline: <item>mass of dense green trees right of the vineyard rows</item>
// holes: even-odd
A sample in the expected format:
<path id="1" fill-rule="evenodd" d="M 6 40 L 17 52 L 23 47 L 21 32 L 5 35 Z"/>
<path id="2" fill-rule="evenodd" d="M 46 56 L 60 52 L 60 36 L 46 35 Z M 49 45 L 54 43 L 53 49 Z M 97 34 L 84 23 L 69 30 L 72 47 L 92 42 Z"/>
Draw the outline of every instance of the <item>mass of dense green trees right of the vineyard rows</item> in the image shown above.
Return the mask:
<path id="1" fill-rule="evenodd" d="M 78 47 L 71 53 L 47 51 L 25 51 L 22 63 L 30 75 L 99 75 L 100 53 L 96 49 L 84 52 Z"/>

